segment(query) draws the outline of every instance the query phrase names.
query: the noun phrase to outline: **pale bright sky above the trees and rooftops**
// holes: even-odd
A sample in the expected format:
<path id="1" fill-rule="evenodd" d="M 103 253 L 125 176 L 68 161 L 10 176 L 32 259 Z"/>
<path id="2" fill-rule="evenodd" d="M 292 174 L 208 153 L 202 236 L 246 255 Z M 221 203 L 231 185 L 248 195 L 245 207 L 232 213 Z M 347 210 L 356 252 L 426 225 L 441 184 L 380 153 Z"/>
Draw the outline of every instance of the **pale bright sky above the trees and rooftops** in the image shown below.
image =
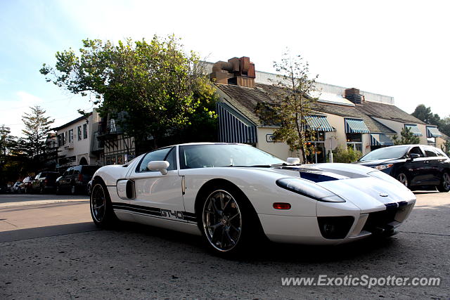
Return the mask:
<path id="1" fill-rule="evenodd" d="M 450 1 L 0 0 L 0 125 L 14 135 L 40 105 L 59 126 L 91 110 L 89 98 L 46 82 L 43 63 L 82 39 L 181 37 L 210 62 L 249 56 L 274 72 L 286 48 L 318 81 L 394 97 L 450 115 Z"/>

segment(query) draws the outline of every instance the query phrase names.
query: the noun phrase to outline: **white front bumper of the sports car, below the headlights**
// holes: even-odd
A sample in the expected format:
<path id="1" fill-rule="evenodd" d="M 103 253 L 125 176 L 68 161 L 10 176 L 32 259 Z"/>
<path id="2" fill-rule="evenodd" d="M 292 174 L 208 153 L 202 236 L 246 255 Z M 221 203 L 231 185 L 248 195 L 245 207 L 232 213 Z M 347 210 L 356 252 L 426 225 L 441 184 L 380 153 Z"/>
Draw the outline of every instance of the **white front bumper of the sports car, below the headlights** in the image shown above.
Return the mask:
<path id="1" fill-rule="evenodd" d="M 392 235 L 405 221 L 416 200 L 386 204 L 385 209 L 364 212 L 349 209 L 339 211 L 339 216 L 352 216 L 353 222 L 343 238 L 326 238 L 316 216 L 280 216 L 259 214 L 264 233 L 273 242 L 292 244 L 342 244 L 360 240 L 371 235 Z M 331 214 L 330 219 L 337 214 Z M 319 216 L 325 218 L 327 216 Z M 323 222 L 321 223 L 323 226 Z"/>

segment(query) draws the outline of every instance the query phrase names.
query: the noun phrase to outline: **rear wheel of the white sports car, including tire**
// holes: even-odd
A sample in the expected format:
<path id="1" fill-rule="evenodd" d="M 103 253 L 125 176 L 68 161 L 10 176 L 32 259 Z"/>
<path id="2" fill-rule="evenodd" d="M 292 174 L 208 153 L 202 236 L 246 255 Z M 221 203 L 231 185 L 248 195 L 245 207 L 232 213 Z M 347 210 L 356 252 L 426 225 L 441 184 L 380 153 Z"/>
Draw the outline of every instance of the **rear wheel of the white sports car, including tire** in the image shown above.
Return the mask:
<path id="1" fill-rule="evenodd" d="M 89 207 L 91 208 L 92 220 L 96 226 L 111 228 L 117 223 L 117 216 L 114 214 L 108 189 L 103 183 L 94 183 Z"/>

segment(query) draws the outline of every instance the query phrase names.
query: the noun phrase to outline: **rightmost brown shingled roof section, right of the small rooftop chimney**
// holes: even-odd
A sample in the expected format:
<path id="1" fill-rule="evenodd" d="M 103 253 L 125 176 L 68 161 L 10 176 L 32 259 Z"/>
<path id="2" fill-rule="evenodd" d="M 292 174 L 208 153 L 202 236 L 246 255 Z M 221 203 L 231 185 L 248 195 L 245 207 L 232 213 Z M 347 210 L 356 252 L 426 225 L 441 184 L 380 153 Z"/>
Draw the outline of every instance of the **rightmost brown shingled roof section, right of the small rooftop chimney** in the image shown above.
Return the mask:
<path id="1" fill-rule="evenodd" d="M 361 105 L 356 105 L 356 109 L 364 112 L 366 115 L 380 119 L 390 119 L 401 123 L 425 124 L 420 119 L 409 115 L 408 112 L 404 112 L 395 105 L 366 101 Z"/>

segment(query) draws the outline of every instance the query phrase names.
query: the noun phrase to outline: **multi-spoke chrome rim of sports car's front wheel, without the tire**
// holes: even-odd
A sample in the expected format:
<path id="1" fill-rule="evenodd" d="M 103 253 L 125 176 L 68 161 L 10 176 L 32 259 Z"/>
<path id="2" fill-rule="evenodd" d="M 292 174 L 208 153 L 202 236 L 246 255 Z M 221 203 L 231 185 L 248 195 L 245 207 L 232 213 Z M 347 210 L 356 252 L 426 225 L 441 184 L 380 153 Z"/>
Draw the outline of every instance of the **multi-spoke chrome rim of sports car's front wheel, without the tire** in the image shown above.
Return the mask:
<path id="1" fill-rule="evenodd" d="M 236 247 L 242 231 L 238 202 L 225 190 L 215 190 L 203 205 L 203 230 L 215 249 L 229 252 Z"/>

